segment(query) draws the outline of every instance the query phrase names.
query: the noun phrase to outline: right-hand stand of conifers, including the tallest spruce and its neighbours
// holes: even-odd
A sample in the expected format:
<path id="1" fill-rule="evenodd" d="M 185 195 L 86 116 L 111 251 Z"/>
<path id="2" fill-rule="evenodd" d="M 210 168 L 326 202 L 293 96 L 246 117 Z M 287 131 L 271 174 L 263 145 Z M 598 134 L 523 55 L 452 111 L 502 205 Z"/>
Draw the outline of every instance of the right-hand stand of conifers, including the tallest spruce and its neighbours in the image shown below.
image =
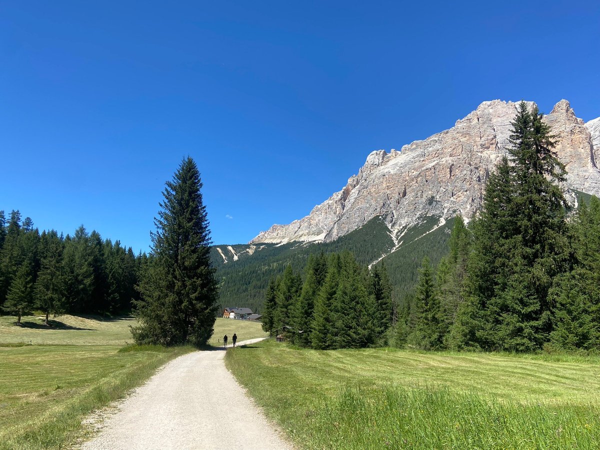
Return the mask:
<path id="1" fill-rule="evenodd" d="M 455 221 L 450 253 L 427 260 L 398 320 L 421 349 L 600 349 L 600 200 L 569 214 L 565 166 L 534 107 L 521 103 L 509 158 L 487 182 L 481 214 Z"/>

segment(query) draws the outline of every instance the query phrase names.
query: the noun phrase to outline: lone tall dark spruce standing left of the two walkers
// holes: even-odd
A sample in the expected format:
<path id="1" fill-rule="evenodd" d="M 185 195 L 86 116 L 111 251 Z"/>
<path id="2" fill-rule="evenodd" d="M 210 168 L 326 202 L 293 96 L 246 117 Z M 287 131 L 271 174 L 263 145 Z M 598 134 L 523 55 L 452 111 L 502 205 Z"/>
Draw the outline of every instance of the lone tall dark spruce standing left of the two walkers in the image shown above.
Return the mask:
<path id="1" fill-rule="evenodd" d="M 202 346 L 217 318 L 218 285 L 210 263 L 210 230 L 196 163 L 187 157 L 172 181 L 155 218 L 152 258 L 140 283 L 136 304 L 137 343 Z"/>

